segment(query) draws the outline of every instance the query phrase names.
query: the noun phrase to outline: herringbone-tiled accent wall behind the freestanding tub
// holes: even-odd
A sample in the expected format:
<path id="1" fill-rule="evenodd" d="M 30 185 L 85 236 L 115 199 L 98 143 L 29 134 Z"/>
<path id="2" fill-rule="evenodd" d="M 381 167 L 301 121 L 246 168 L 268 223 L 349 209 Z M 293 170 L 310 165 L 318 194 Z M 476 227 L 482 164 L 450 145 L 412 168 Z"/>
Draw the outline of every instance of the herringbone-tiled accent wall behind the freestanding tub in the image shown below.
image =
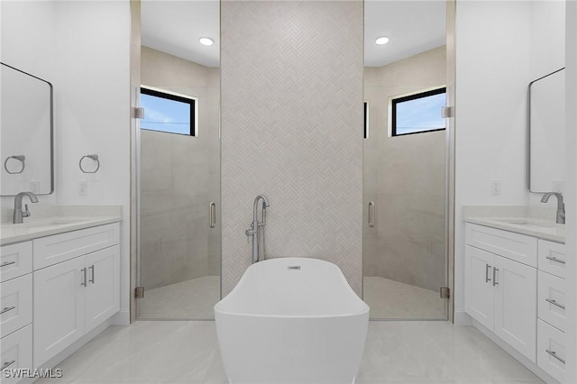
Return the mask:
<path id="1" fill-rule="evenodd" d="M 362 2 L 226 1 L 221 33 L 223 295 L 259 194 L 267 256 L 333 261 L 360 295 Z"/>

